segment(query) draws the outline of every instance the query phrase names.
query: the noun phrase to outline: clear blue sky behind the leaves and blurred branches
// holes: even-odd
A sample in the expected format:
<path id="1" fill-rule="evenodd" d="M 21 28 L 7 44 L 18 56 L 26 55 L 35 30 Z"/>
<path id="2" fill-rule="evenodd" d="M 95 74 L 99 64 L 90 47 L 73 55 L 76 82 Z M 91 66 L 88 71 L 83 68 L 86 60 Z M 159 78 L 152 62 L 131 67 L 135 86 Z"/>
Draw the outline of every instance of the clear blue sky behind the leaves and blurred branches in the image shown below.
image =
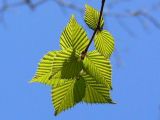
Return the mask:
<path id="1" fill-rule="evenodd" d="M 86 3 L 72 1 L 81 7 Z M 88 1 L 99 8 L 100 0 Z M 114 11 L 147 8 L 157 1 L 121 3 Z M 117 104 L 80 103 L 54 117 L 50 87 L 28 81 L 42 56 L 60 49 L 59 37 L 72 13 L 87 28 L 82 14 L 53 2 L 34 12 L 24 6 L 5 13 L 5 24 L 0 24 L 0 120 L 160 120 L 160 30 L 152 24 L 144 30 L 135 18 L 125 18 L 135 33 L 130 36 L 111 17 L 106 18 L 105 28 L 115 37 L 123 63 L 117 66 L 117 55 L 112 56 L 112 97 Z M 160 15 L 154 15 L 160 20 Z"/>

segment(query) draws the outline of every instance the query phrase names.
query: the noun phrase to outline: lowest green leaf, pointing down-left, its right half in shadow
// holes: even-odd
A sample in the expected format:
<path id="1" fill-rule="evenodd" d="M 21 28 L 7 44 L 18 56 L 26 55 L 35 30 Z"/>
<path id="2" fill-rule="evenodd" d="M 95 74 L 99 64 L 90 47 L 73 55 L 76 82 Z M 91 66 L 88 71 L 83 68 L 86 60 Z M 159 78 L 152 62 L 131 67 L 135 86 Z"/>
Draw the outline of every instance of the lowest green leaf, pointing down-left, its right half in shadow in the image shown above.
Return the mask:
<path id="1" fill-rule="evenodd" d="M 52 89 L 52 102 L 55 115 L 65 111 L 82 101 L 85 93 L 85 82 L 81 80 L 67 80 L 62 86 Z"/>

